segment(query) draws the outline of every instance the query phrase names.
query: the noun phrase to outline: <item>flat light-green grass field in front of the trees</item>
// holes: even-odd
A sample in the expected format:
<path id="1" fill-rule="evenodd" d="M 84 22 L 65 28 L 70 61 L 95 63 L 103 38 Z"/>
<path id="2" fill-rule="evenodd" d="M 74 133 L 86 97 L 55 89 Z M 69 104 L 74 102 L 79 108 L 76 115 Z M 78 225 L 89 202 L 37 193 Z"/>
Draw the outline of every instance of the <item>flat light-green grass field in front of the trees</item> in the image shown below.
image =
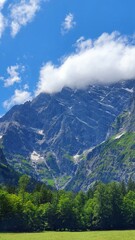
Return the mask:
<path id="1" fill-rule="evenodd" d="M 0 240 L 135 240 L 135 231 L 3 233 Z"/>

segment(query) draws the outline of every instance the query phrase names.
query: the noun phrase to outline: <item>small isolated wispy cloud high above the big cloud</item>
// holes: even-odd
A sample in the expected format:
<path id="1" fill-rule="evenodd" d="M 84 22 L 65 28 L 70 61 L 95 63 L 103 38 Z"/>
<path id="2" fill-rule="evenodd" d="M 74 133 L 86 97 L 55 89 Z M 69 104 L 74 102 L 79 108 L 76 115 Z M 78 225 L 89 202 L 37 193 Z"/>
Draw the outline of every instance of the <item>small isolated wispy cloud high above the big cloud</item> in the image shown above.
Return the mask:
<path id="1" fill-rule="evenodd" d="M 72 13 L 69 13 L 65 17 L 65 20 L 61 25 L 62 34 L 69 32 L 72 28 L 74 28 L 75 25 L 76 25 L 76 22 L 74 21 L 74 15 Z"/>

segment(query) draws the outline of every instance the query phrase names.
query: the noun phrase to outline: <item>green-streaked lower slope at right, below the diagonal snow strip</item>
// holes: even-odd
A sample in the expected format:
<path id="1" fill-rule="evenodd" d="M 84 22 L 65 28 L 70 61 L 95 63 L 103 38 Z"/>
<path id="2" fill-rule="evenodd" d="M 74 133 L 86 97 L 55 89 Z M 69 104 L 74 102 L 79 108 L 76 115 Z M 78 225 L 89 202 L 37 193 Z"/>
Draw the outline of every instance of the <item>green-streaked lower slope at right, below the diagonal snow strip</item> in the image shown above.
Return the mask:
<path id="1" fill-rule="evenodd" d="M 87 154 L 67 189 L 87 190 L 95 181 L 135 180 L 135 132 L 117 134 Z"/>

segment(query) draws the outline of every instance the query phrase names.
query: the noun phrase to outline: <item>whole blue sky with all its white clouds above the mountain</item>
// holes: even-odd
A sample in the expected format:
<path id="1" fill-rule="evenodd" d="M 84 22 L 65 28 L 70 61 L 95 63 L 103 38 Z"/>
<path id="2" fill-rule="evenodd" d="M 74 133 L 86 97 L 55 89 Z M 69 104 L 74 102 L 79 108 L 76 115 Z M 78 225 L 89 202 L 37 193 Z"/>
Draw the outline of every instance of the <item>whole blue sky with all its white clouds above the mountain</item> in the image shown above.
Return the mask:
<path id="1" fill-rule="evenodd" d="M 135 79 L 134 0 L 0 0 L 0 116 L 41 92 Z"/>

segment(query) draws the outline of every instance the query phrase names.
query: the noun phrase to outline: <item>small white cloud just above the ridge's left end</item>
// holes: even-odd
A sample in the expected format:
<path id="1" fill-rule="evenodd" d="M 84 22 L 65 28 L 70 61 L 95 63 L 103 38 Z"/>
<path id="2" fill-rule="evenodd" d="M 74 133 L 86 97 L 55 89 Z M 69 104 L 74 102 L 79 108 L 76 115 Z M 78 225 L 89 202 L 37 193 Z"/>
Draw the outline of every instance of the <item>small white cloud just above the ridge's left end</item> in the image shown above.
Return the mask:
<path id="1" fill-rule="evenodd" d="M 3 106 L 4 108 L 9 109 L 13 105 L 22 104 L 31 99 L 32 96 L 30 92 L 16 89 L 14 95 L 10 99 L 4 101 Z"/>

